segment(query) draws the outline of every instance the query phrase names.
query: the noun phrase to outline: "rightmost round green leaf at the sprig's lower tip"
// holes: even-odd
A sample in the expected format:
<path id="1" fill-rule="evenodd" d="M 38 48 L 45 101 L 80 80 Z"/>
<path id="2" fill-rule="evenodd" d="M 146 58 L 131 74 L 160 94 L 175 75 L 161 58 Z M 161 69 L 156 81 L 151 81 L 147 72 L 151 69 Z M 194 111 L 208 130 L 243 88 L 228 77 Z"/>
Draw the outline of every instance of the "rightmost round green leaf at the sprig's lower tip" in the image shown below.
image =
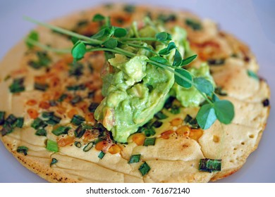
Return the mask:
<path id="1" fill-rule="evenodd" d="M 234 106 L 230 101 L 221 100 L 214 102 L 214 110 L 218 120 L 226 125 L 230 124 L 234 117 Z"/>

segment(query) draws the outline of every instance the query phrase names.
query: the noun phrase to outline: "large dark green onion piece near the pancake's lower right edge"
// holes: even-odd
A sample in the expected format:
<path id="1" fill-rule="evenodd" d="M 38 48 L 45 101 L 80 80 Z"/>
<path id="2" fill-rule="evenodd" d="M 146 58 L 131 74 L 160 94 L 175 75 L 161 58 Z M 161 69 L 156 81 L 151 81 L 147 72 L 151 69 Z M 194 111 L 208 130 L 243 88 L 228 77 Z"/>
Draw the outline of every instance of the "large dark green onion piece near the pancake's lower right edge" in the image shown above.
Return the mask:
<path id="1" fill-rule="evenodd" d="M 200 160 L 199 170 L 204 172 L 221 171 L 221 160 L 204 158 Z"/>

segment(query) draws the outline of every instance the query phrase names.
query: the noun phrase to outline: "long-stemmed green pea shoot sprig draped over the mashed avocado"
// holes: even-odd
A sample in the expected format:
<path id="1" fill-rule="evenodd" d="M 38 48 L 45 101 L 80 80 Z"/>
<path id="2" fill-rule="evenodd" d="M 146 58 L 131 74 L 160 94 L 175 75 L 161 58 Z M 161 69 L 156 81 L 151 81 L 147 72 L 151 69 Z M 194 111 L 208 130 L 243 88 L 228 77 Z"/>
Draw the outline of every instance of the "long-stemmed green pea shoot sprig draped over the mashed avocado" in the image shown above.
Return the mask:
<path id="1" fill-rule="evenodd" d="M 123 49 L 123 47 L 121 47 L 123 45 L 128 45 L 135 49 L 145 49 L 153 54 L 152 57 L 148 58 L 147 63 L 155 65 L 158 68 L 169 70 L 169 72 L 173 72 L 175 82 L 178 85 L 185 89 L 195 87 L 195 89 L 197 89 L 197 91 L 203 96 L 205 102 L 202 103 L 196 116 L 197 123 L 202 129 L 208 129 L 216 120 L 219 120 L 224 124 L 229 124 L 233 120 L 233 104 L 227 100 L 220 100 L 214 93 L 214 86 L 209 82 L 209 80 L 206 80 L 204 77 L 195 77 L 185 69 L 185 65 L 194 61 L 197 55 L 183 58 L 181 53 L 178 51 L 176 44 L 172 41 L 171 34 L 167 32 L 159 32 L 155 37 L 129 37 L 126 28 L 112 26 L 110 18 L 100 14 L 94 15 L 92 20 L 103 24 L 102 28 L 92 37 L 86 37 L 82 34 L 71 32 L 47 23 L 41 23 L 32 18 L 25 17 L 25 20 L 36 23 L 37 25 L 42 25 L 61 34 L 71 36 L 73 49 L 70 51 L 73 55 L 74 61 L 80 61 L 85 56 L 85 53 L 92 51 L 118 53 L 127 56 L 128 58 L 137 56 L 136 53 Z M 164 44 L 166 47 L 161 49 L 159 52 L 156 52 L 152 48 L 145 46 L 145 42 L 159 42 Z M 49 46 L 40 44 L 35 32 L 32 32 L 32 34 L 27 37 L 26 43 L 28 46 L 36 45 L 42 49 L 59 53 L 69 52 L 68 49 L 52 49 Z M 173 63 L 170 64 L 165 57 L 170 55 L 172 51 L 175 51 L 175 53 L 173 55 Z"/>

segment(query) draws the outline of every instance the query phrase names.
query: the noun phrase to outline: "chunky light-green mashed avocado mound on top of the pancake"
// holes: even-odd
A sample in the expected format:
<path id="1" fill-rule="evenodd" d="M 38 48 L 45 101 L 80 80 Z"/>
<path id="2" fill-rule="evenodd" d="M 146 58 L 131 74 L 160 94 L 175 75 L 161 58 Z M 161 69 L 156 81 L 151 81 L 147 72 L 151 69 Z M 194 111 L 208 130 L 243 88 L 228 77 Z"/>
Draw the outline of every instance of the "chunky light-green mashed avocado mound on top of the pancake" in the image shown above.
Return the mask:
<path id="1" fill-rule="evenodd" d="M 163 27 L 152 25 L 147 25 L 138 32 L 136 30 L 137 28 L 130 30 L 131 37 L 154 37 L 157 32 L 164 31 Z M 185 30 L 173 27 L 171 35 L 178 51 L 186 53 L 188 42 Z M 159 42 L 147 42 L 144 46 L 156 52 L 166 47 Z M 202 101 L 195 89 L 184 89 L 174 84 L 172 72 L 147 63 L 148 58 L 154 56 L 152 52 L 131 46 L 123 47 L 134 51 L 137 56 L 127 58 L 115 54 L 114 58 L 109 59 L 109 72 L 103 76 L 102 94 L 105 98 L 94 113 L 95 119 L 112 132 L 114 140 L 122 143 L 127 142 L 130 134 L 137 132 L 138 127 L 145 125 L 163 108 L 171 93 L 176 95 L 183 106 L 198 106 Z M 169 64 L 173 63 L 173 53 L 166 56 Z M 199 70 L 191 69 L 191 72 L 195 76 L 209 75 L 207 65 Z M 208 79 L 212 80 L 210 75 Z"/>

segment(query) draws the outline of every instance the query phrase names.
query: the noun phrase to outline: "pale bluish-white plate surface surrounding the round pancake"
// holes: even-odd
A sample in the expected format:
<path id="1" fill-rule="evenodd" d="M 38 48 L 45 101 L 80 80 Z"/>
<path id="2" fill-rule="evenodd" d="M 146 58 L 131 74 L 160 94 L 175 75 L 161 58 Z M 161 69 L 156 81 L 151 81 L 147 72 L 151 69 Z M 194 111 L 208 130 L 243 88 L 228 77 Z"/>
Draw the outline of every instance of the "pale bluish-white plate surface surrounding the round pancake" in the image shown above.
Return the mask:
<path id="1" fill-rule="evenodd" d="M 68 3 L 70 2 L 70 3 Z M 47 21 L 73 11 L 94 6 L 106 1 L 0 1 L 0 58 L 8 52 L 32 25 L 22 19 L 28 15 Z M 111 1 L 107 1 L 111 2 Z M 147 4 L 147 0 L 123 1 Z M 235 34 L 247 43 L 257 56 L 259 75 L 267 79 L 274 98 L 275 77 L 275 7 L 274 1 L 150 1 L 152 5 L 188 9 L 202 18 L 211 18 L 220 24 L 222 30 Z M 0 68 L 1 69 L 1 68 Z M 1 71 L 0 71 L 1 72 Z M 271 106 L 275 106 L 271 100 Z M 275 182 L 275 114 L 271 110 L 267 128 L 258 149 L 250 155 L 238 172 L 219 182 Z M 8 153 L 0 143 L 0 182 L 45 182 L 27 170 Z"/>

